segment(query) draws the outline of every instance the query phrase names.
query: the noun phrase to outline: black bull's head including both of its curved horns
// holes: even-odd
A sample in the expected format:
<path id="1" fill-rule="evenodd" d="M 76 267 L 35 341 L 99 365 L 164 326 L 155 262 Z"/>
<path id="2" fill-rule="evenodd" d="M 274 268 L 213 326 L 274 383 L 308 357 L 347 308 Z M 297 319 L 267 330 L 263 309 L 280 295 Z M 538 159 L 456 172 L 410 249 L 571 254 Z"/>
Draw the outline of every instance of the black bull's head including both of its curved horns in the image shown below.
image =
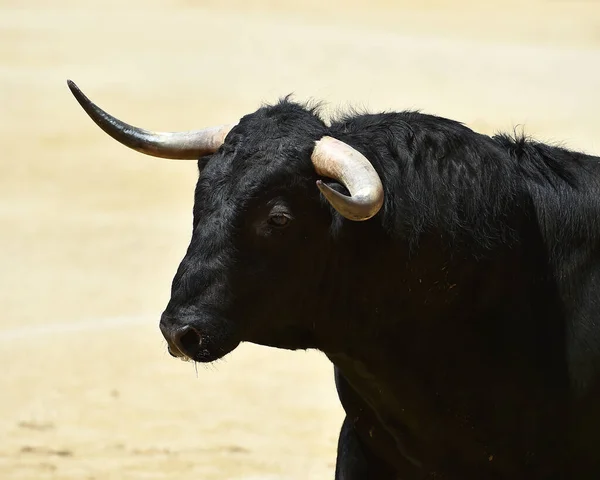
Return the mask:
<path id="1" fill-rule="evenodd" d="M 380 178 L 365 156 L 328 136 L 312 111 L 287 101 L 236 125 L 156 133 L 117 120 L 68 84 L 120 143 L 198 160 L 193 234 L 160 321 L 170 353 L 208 362 L 241 341 L 319 347 L 317 324 L 331 310 L 321 297 L 346 283 L 335 278 L 339 245 L 327 202 L 353 221 L 371 218 L 383 204 Z"/>

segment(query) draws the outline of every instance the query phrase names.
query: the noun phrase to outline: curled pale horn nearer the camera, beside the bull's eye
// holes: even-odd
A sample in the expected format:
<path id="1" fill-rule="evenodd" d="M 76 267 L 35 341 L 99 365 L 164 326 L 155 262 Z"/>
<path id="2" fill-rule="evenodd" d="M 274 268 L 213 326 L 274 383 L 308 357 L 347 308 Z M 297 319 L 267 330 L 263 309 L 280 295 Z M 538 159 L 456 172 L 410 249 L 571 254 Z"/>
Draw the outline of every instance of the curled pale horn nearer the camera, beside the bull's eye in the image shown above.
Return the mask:
<path id="1" fill-rule="evenodd" d="M 325 136 L 316 142 L 311 160 L 319 175 L 337 180 L 350 192 L 348 197 L 317 180 L 319 190 L 341 215 L 349 220 L 362 221 L 373 217 L 381 209 L 381 179 L 371 162 L 358 150 Z"/>

